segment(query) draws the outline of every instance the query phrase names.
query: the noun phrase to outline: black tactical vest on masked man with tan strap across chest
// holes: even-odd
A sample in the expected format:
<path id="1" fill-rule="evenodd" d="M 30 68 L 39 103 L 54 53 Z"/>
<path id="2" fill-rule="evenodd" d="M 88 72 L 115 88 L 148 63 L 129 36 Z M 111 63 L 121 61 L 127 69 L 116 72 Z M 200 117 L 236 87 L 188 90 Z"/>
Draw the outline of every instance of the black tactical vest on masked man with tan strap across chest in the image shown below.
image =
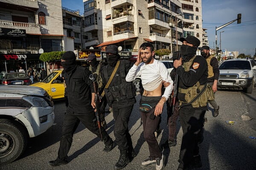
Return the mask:
<path id="1" fill-rule="evenodd" d="M 118 78 L 114 77 L 110 86 L 105 88 L 105 96 L 109 104 L 113 102 L 124 102 L 134 100 L 136 96 L 136 89 L 133 82 L 126 82 L 126 72 L 125 72 L 125 63 L 120 61 L 119 68 L 116 71 L 116 74 L 119 74 Z M 104 67 L 102 70 L 104 73 L 107 73 L 107 67 Z M 108 80 L 108 74 L 103 74 L 104 79 Z"/>

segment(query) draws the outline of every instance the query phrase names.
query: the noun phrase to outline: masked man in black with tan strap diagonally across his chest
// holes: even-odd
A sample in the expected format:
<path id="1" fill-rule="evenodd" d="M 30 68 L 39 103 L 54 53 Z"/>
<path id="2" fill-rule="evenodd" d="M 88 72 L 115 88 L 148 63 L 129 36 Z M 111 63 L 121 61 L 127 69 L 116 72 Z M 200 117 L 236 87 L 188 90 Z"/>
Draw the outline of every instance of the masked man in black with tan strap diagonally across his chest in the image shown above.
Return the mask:
<path id="1" fill-rule="evenodd" d="M 113 117 L 115 119 L 114 135 L 116 144 L 120 150 L 120 157 L 114 166 L 114 169 L 119 170 L 125 167 L 131 159 L 137 156 L 132 146 L 131 135 L 128 130 L 128 121 L 136 103 L 136 90 L 132 82 L 126 82 L 125 77 L 133 63 L 128 60 L 120 60 L 117 46 L 108 45 L 106 47 L 106 57 L 108 65 L 101 70 L 103 85 L 105 85 L 105 96 L 108 104 L 113 108 Z M 109 79 L 113 73 L 113 79 Z"/>

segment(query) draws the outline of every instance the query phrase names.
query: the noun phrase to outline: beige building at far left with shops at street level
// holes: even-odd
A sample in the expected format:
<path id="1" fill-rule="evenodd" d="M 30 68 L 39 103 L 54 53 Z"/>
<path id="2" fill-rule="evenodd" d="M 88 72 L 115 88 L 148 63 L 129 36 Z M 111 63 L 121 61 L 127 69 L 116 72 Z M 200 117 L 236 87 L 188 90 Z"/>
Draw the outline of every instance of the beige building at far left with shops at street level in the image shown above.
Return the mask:
<path id="1" fill-rule="evenodd" d="M 43 66 L 39 53 L 63 51 L 63 36 L 61 0 L 0 0 L 1 71 Z"/>

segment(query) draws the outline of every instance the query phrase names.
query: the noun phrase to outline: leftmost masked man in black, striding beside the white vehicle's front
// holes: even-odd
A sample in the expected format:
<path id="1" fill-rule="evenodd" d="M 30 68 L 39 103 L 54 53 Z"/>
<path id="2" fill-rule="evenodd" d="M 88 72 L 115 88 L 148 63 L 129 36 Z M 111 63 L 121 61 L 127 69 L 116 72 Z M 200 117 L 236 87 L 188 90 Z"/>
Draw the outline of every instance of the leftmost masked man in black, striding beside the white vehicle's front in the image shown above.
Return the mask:
<path id="1" fill-rule="evenodd" d="M 92 133 L 101 137 L 95 115 L 95 91 L 93 88 L 93 74 L 86 68 L 76 64 L 76 55 L 72 51 L 65 52 L 61 57 L 61 65 L 64 68 L 64 79 L 68 91 L 68 107 L 62 125 L 61 141 L 58 157 L 49 161 L 51 166 L 67 164 L 67 153 L 73 141 L 73 130 L 79 119 Z M 113 140 L 108 136 L 104 128 L 101 128 L 102 139 L 105 144 L 103 151 L 113 149 Z"/>

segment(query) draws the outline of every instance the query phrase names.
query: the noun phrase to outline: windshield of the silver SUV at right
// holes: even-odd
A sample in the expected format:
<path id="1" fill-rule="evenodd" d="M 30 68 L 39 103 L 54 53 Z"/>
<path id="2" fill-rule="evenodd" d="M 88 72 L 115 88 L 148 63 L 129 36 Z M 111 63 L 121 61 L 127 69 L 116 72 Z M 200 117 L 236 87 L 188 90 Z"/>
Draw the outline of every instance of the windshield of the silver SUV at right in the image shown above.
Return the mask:
<path id="1" fill-rule="evenodd" d="M 223 62 L 220 67 L 220 70 L 250 70 L 250 62 L 243 60 L 234 60 L 234 61 L 226 61 Z"/>

